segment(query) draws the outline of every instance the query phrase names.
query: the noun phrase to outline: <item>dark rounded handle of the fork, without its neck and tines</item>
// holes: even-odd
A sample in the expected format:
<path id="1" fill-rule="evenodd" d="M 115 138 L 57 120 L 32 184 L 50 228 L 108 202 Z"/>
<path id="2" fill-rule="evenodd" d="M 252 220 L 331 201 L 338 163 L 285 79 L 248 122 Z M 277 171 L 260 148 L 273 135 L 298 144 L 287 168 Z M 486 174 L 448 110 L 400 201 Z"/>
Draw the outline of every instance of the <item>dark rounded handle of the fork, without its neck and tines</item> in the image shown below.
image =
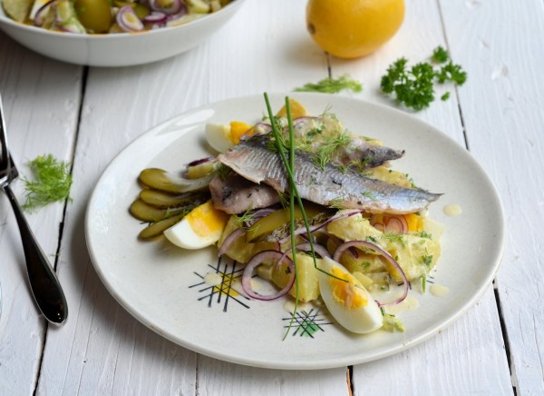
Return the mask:
<path id="1" fill-rule="evenodd" d="M 37 243 L 34 233 L 24 218 L 23 211 L 9 185 L 4 191 L 11 203 L 21 240 L 23 241 L 26 270 L 30 281 L 30 288 L 38 308 L 44 313 L 45 319 L 55 324 L 62 324 L 68 317 L 68 305 L 61 287 L 61 283 L 47 260 L 42 248 Z"/>

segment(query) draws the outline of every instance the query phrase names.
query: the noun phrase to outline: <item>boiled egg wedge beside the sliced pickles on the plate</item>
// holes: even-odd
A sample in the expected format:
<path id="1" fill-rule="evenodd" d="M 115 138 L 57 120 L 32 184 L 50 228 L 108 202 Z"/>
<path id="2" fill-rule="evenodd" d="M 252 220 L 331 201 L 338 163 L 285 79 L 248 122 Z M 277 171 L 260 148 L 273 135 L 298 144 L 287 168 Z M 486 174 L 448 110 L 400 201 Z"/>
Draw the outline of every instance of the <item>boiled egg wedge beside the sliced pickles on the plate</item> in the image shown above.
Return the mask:
<path id="1" fill-rule="evenodd" d="M 219 241 L 227 226 L 228 214 L 216 209 L 211 201 L 190 211 L 176 225 L 164 232 L 164 236 L 184 249 L 201 249 Z"/>

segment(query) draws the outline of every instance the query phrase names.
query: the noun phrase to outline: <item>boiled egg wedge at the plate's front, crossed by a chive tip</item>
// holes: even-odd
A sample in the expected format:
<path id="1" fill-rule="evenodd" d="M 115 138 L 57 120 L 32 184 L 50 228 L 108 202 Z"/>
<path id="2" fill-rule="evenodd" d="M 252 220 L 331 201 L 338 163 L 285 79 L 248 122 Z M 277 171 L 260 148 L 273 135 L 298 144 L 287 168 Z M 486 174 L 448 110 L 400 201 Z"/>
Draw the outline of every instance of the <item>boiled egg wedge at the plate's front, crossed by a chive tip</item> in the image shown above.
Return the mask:
<path id="1" fill-rule="evenodd" d="M 319 291 L 336 322 L 350 332 L 374 332 L 384 324 L 384 316 L 372 295 L 344 265 L 324 258 L 319 272 Z M 334 275 L 334 276 L 331 276 Z"/>

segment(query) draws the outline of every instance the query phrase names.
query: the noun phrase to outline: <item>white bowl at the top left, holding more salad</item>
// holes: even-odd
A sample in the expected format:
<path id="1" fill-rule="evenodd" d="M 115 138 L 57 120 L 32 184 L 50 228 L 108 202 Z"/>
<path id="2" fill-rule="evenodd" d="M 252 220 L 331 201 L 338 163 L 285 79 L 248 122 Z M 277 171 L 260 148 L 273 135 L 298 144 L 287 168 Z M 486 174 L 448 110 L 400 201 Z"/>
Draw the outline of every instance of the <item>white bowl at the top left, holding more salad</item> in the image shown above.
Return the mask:
<path id="1" fill-rule="evenodd" d="M 0 5 L 0 29 L 39 54 L 72 64 L 131 66 L 181 54 L 199 45 L 234 15 L 244 0 L 234 0 L 218 12 L 186 25 L 142 33 L 79 35 L 52 32 L 15 22 Z"/>

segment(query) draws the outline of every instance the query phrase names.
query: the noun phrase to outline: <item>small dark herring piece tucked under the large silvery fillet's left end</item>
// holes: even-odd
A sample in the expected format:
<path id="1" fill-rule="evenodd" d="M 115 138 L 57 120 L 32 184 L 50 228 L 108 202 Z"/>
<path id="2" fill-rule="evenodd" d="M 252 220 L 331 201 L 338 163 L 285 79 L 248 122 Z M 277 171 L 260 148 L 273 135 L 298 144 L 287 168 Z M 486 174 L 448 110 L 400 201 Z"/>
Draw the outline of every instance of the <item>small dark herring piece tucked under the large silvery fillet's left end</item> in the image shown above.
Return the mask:
<path id="1" fill-rule="evenodd" d="M 213 205 L 229 214 L 244 213 L 249 208 L 266 208 L 279 202 L 276 190 L 267 184 L 257 184 L 231 172 L 223 180 L 217 174 L 209 183 Z"/>

